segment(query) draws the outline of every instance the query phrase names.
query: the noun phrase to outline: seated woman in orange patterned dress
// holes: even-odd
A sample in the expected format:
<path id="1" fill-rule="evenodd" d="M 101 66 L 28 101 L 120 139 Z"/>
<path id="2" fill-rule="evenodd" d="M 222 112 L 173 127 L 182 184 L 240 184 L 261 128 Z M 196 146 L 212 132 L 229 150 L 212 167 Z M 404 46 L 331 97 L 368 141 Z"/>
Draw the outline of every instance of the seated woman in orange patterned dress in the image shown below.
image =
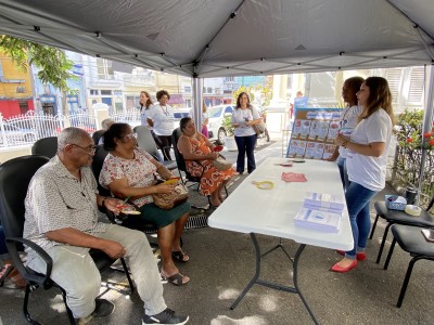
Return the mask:
<path id="1" fill-rule="evenodd" d="M 178 140 L 178 150 L 186 160 L 187 170 L 193 177 L 202 177 L 201 194 L 209 195 L 213 206 L 218 207 L 224 200 L 221 192 L 225 185 L 237 172 L 233 168 L 218 170 L 213 165 L 212 160 L 218 157 L 218 153 L 214 152 L 215 145 L 196 131 L 191 117 L 181 118 L 179 126 L 182 135 Z"/>

